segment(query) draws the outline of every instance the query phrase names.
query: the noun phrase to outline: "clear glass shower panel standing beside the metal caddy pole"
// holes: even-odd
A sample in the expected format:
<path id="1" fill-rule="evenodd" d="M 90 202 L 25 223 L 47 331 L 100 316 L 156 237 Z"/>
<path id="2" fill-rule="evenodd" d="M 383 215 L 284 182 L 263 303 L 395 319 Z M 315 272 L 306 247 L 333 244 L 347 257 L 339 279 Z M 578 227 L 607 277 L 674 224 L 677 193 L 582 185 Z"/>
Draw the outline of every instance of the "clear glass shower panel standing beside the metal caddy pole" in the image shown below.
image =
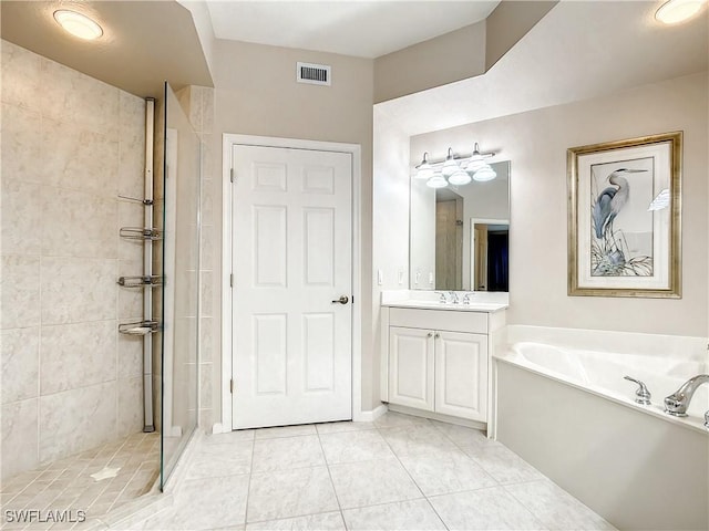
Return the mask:
<path id="1" fill-rule="evenodd" d="M 197 426 L 201 142 L 165 83 L 161 487 Z"/>

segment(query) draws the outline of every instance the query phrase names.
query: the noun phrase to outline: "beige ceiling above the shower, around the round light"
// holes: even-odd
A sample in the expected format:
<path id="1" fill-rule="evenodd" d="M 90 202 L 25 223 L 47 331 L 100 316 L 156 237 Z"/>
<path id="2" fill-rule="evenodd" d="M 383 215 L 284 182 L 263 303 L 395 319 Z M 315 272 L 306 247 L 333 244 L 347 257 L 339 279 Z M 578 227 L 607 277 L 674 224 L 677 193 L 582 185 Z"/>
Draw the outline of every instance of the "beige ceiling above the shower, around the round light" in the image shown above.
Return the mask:
<path id="1" fill-rule="evenodd" d="M 68 35 L 52 13 L 72 7 L 100 21 L 104 37 Z M 2 0 L 0 8 L 2 39 L 132 94 L 158 97 L 165 80 L 212 85 L 192 15 L 176 2 Z"/>

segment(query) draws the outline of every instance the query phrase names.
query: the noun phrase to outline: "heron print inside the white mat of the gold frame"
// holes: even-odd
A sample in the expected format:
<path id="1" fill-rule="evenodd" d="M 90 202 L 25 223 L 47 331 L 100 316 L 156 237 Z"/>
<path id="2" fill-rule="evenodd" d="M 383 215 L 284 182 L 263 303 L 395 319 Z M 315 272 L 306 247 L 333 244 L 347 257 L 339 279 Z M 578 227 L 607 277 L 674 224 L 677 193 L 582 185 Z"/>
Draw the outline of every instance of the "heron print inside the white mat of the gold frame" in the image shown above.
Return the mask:
<path id="1" fill-rule="evenodd" d="M 592 277 L 653 277 L 654 158 L 590 166 Z"/>

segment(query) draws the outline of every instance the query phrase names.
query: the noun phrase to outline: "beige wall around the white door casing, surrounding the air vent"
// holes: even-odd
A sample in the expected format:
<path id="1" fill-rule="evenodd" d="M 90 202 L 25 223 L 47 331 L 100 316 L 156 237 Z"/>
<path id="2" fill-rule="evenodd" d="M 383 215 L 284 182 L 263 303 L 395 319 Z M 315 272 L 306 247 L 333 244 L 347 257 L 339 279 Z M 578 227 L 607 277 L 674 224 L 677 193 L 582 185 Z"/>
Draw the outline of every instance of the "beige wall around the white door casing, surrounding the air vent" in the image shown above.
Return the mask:
<path id="1" fill-rule="evenodd" d="M 296 62 L 332 66 L 332 85 L 296 83 Z M 371 285 L 372 87 L 370 60 L 217 40 L 214 46 L 215 88 L 202 90 L 205 143 L 203 183 L 203 362 L 210 367 L 202 381 L 203 427 L 220 421 L 222 398 L 222 138 L 225 133 L 359 144 L 362 149 L 361 201 L 362 287 Z M 213 102 L 212 102 L 213 98 Z M 195 107 L 196 110 L 196 107 Z M 195 111 L 197 112 L 197 111 Z M 193 122 L 194 123 L 194 122 Z M 205 266 L 206 264 L 206 266 Z M 207 274 L 205 274 L 207 273 Z M 371 293 L 363 292 L 362 408 L 379 397 L 372 389 Z M 377 402 L 378 403 L 378 402 Z"/>

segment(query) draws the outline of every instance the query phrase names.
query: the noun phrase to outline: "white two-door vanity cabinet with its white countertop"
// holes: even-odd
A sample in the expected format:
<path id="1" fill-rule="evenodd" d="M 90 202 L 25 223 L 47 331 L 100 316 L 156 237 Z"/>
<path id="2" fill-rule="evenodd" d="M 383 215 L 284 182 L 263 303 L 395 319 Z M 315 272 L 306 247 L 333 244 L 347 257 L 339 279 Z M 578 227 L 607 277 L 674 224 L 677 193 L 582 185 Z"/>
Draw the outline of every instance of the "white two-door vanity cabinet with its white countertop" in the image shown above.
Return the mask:
<path id="1" fill-rule="evenodd" d="M 506 293 L 458 295 L 454 304 L 435 292 L 382 293 L 381 399 L 392 410 L 486 429 L 490 357 Z"/>

